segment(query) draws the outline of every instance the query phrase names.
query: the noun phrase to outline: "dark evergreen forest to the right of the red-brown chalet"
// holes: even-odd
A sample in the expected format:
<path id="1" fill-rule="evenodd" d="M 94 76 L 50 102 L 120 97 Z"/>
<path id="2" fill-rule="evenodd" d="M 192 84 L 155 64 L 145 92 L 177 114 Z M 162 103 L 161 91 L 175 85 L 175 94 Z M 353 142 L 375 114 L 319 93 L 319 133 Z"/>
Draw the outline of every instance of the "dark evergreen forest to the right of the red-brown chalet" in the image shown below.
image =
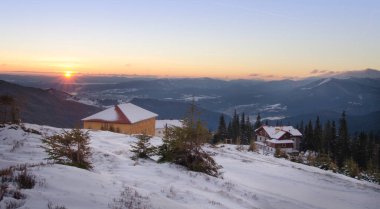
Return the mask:
<path id="1" fill-rule="evenodd" d="M 380 137 L 365 132 L 350 136 L 345 112 L 337 125 L 330 120 L 321 124 L 319 117 L 314 123 L 310 120 L 304 125 L 302 121 L 296 126 L 304 136 L 301 151 L 315 151 L 319 156 L 327 156 L 341 170 L 357 167 L 361 171 L 378 173 Z"/>

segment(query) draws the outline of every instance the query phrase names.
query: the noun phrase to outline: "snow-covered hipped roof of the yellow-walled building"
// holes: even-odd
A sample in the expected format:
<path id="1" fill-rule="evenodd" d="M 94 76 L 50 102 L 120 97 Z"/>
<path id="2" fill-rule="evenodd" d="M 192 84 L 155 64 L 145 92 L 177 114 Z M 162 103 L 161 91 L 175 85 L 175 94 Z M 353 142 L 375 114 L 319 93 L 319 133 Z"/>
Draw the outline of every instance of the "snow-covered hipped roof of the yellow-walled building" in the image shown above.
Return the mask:
<path id="1" fill-rule="evenodd" d="M 132 103 L 115 105 L 89 117 L 83 121 L 106 121 L 121 123 L 136 123 L 149 118 L 157 117 L 156 113 L 150 112 Z"/>

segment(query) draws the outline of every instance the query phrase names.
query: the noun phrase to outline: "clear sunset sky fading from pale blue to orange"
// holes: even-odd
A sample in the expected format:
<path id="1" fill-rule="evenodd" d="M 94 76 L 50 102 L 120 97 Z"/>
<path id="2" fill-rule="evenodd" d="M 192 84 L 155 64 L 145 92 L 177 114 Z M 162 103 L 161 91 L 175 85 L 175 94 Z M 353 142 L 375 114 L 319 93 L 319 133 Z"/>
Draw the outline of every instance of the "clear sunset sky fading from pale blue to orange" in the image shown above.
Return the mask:
<path id="1" fill-rule="evenodd" d="M 378 0 L 2 0 L 0 73 L 298 78 L 380 69 Z"/>

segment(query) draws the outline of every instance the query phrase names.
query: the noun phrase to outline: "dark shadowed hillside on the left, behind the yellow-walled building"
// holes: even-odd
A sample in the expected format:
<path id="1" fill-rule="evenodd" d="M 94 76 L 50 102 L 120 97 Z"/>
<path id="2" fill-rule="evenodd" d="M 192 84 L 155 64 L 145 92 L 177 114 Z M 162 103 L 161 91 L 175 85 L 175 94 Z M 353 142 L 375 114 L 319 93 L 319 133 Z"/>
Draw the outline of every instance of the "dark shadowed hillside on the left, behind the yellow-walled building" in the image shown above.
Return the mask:
<path id="1" fill-rule="evenodd" d="M 0 80 L 0 95 L 14 96 L 20 105 L 23 122 L 55 127 L 75 127 L 81 119 L 100 111 L 94 106 L 66 100 L 61 91 L 24 87 Z"/>

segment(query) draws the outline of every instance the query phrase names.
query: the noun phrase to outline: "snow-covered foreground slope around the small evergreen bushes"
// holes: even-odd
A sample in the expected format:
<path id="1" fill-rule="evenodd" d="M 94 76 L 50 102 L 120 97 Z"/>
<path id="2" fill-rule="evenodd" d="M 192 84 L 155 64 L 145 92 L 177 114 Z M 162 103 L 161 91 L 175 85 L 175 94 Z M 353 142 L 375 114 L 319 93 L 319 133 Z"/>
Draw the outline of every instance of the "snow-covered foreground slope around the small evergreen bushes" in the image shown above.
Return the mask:
<path id="1" fill-rule="evenodd" d="M 42 134 L 61 129 L 25 124 Z M 236 145 L 206 146 L 223 178 L 187 171 L 154 160 L 131 160 L 133 136 L 90 131 L 93 170 L 64 165 L 29 168 L 37 182 L 22 189 L 20 208 L 53 205 L 76 208 L 117 208 L 134 201 L 145 208 L 378 208 L 380 186 L 331 171 L 272 156 L 238 151 Z M 0 169 L 16 164 L 46 162 L 41 135 L 17 126 L 0 128 Z M 152 138 L 160 145 L 161 139 Z M 6 197 L 0 202 L 4 207 Z M 120 200 L 120 201 L 119 201 Z M 123 208 L 123 207 L 121 207 Z M 137 206 L 134 208 L 138 208 Z"/>

